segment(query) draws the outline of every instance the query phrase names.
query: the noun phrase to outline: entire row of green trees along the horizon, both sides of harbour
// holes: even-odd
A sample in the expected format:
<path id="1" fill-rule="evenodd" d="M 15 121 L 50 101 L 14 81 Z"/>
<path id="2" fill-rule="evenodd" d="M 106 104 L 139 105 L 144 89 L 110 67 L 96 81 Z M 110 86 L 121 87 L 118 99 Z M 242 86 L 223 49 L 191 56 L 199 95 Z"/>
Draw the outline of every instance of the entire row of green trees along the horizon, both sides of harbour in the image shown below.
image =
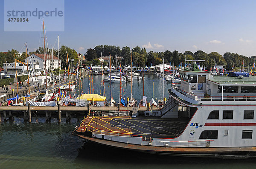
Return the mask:
<path id="1" fill-rule="evenodd" d="M 47 54 L 52 54 L 52 50 L 46 49 Z M 48 52 L 49 51 L 49 52 Z M 36 51 L 29 52 L 30 54 L 44 54 L 44 48 L 39 47 Z M 14 54 L 16 54 L 16 59 L 24 62 L 26 59 L 26 53 L 23 52 L 21 55 L 18 55 L 18 51 L 12 49 L 7 53 L 0 52 L 0 67 L 3 67 L 4 62 L 14 62 Z M 61 46 L 60 48 L 60 59 L 61 59 L 61 66 L 65 68 L 67 54 L 69 59 L 74 59 L 74 65 L 77 63 L 78 53 L 76 50 L 69 48 L 67 46 Z M 54 51 L 54 55 L 58 56 L 58 51 Z M 122 56 L 121 64 L 122 65 L 131 65 L 131 48 L 128 46 L 120 48 L 119 46 L 114 45 L 97 45 L 94 48 L 87 49 L 87 52 L 84 55 L 83 64 L 85 65 L 100 65 L 99 59 L 101 56 Z M 231 69 L 234 67 L 239 67 L 239 65 L 244 65 L 244 68 L 248 68 L 248 66 L 252 66 L 254 63 L 254 59 L 256 56 L 243 56 L 235 53 L 226 52 L 223 56 L 218 54 L 218 52 L 211 52 L 207 54 L 204 51 L 196 51 L 195 53 L 191 51 L 185 51 L 183 53 L 178 51 L 169 51 L 166 50 L 164 52 L 154 52 L 149 51 L 147 52 L 145 48 L 140 48 L 136 46 L 132 48 L 132 55 L 133 55 L 133 65 L 139 65 L 143 67 L 143 64 L 148 65 L 158 65 L 163 63 L 163 59 L 165 63 L 172 63 L 172 66 L 179 67 L 180 63 L 184 61 L 185 57 L 186 60 L 204 60 L 204 62 L 200 62 L 200 65 L 206 66 L 208 69 L 212 68 L 215 64 L 217 65 L 224 65 L 226 69 Z M 112 60 L 111 59 L 111 60 Z M 105 63 L 106 65 L 107 63 Z"/>

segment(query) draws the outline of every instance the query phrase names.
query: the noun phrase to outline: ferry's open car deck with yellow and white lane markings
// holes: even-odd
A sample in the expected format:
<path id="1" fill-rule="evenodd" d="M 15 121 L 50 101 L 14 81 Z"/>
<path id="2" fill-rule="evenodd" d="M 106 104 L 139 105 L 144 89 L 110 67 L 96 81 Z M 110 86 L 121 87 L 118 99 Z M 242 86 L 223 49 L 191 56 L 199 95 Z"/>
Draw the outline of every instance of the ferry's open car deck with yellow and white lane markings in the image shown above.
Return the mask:
<path id="1" fill-rule="evenodd" d="M 87 128 L 93 133 L 110 135 L 132 135 L 152 138 L 175 138 L 182 133 L 189 118 L 158 118 L 130 116 L 88 116 L 81 127 L 76 131 L 81 132 Z M 84 128 L 84 129 L 81 129 Z"/>

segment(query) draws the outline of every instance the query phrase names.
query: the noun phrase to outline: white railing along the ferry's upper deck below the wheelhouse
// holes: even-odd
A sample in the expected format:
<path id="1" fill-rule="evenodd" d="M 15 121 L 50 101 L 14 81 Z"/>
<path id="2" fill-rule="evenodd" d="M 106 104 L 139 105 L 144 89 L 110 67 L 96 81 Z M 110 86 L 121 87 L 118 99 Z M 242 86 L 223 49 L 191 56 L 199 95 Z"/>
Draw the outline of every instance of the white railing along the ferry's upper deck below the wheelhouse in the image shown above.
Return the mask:
<path id="1" fill-rule="evenodd" d="M 256 96 L 198 96 L 181 89 L 176 89 L 176 91 L 183 96 L 199 101 L 256 101 Z"/>

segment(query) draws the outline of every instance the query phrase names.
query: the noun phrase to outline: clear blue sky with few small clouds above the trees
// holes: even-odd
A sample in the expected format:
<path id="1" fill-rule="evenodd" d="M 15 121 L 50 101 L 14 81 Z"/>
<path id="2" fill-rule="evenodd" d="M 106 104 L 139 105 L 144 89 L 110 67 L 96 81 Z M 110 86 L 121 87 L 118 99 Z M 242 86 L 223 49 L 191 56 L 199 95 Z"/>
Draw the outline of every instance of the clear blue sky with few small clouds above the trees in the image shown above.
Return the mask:
<path id="1" fill-rule="evenodd" d="M 48 44 L 59 35 L 61 45 L 82 54 L 96 45 L 138 45 L 254 56 L 255 8 L 255 0 L 65 0 L 65 31 L 47 32 Z M 25 42 L 30 51 L 43 45 L 41 32 L 4 32 L 4 0 L 0 14 L 0 51 L 20 51 Z"/>

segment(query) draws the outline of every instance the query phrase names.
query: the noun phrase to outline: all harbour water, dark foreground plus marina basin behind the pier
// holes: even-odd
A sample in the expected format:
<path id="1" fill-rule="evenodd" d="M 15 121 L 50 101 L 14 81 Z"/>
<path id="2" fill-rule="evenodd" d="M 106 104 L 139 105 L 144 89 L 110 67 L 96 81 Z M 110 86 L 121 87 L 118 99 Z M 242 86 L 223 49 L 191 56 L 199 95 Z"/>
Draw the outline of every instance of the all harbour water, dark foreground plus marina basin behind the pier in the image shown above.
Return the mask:
<path id="1" fill-rule="evenodd" d="M 94 90 L 97 78 L 94 78 Z M 163 81 L 154 75 L 145 78 L 145 95 L 152 97 L 154 80 L 154 98 L 162 99 Z M 87 89 L 87 78 L 83 79 Z M 99 83 L 100 84 L 100 83 Z M 164 84 L 166 90 L 170 84 Z M 113 98 L 117 100 L 119 93 L 115 91 L 119 84 L 113 85 Z M 134 80 L 134 98 L 139 100 L 143 94 L 143 81 Z M 130 84 L 124 84 L 129 93 Z M 106 94 L 108 95 L 108 82 Z M 96 93 L 96 92 L 95 92 Z M 129 96 L 130 94 L 128 94 Z M 168 93 L 165 93 L 168 98 Z M 127 96 L 125 96 L 127 97 Z M 150 99 L 148 99 L 149 101 Z M 57 117 L 45 122 L 45 117 L 32 114 L 32 123 L 24 122 L 22 116 L 14 116 L 11 121 L 0 124 L 0 168 L 1 169 L 253 169 L 255 158 L 244 160 L 228 160 L 217 158 L 173 157 L 133 152 L 116 149 L 85 141 L 72 135 L 73 130 L 81 122 L 83 116 L 72 117 L 66 122 L 63 117 L 58 124 Z"/>

